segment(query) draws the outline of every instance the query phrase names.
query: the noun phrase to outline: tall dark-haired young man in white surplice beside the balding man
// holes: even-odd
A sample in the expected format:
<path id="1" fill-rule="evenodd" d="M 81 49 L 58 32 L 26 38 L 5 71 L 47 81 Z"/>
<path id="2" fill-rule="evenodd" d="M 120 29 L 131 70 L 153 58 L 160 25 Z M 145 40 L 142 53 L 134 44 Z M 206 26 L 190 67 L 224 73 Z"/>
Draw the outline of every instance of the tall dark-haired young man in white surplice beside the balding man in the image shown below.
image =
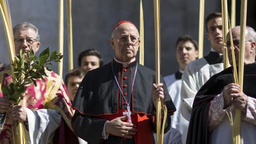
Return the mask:
<path id="1" fill-rule="evenodd" d="M 222 15 L 219 12 L 209 14 L 205 19 L 206 36 L 211 42 L 211 52 L 201 59 L 187 65 L 182 75 L 181 113 L 190 120 L 192 104 L 197 91 L 211 76 L 223 70 Z"/>

